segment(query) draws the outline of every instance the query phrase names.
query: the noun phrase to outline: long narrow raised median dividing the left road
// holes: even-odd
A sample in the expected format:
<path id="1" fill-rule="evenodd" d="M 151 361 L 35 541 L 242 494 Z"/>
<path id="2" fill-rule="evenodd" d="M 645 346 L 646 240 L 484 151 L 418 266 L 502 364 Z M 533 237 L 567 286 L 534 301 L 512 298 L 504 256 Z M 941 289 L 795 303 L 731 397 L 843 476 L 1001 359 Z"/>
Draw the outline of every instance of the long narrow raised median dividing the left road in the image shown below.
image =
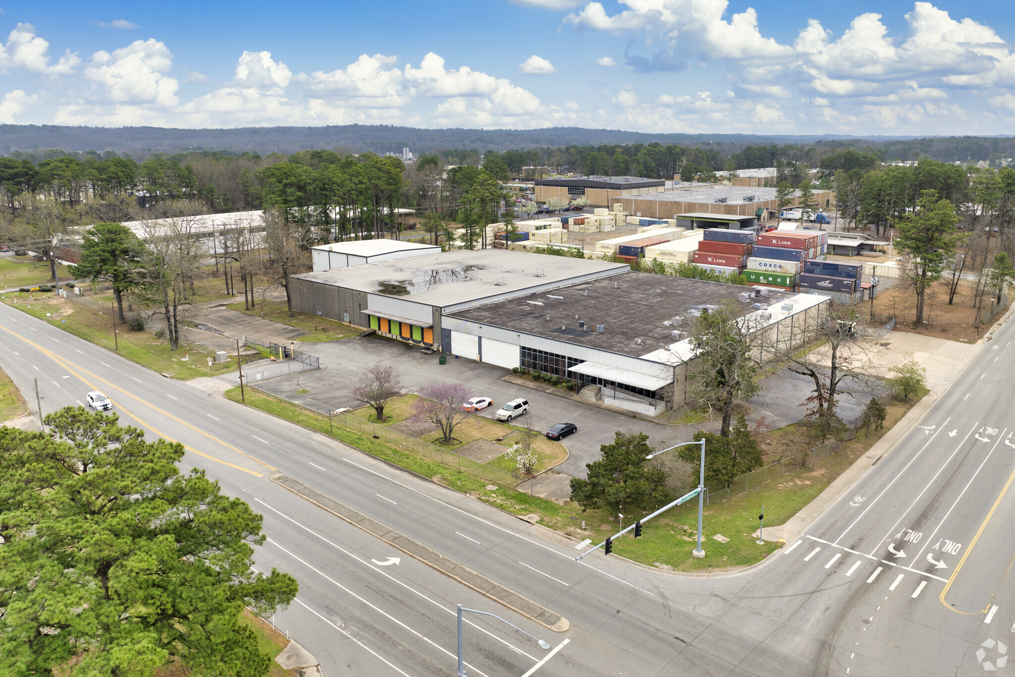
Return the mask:
<path id="1" fill-rule="evenodd" d="M 472 588 L 480 595 L 483 595 L 494 602 L 498 602 L 512 611 L 516 611 L 526 618 L 533 620 L 554 632 L 565 632 L 570 627 L 570 623 L 560 614 L 554 613 L 546 607 L 533 602 L 532 600 L 519 595 L 518 593 L 504 588 L 498 583 L 490 581 L 486 577 L 473 571 L 454 559 L 445 557 L 436 550 L 426 547 L 422 543 L 381 524 L 380 522 L 366 517 L 362 513 L 355 511 L 344 503 L 340 503 L 331 496 L 314 489 L 299 480 L 287 475 L 273 475 L 271 481 L 293 492 L 318 507 L 331 513 L 335 517 L 342 519 L 354 527 L 359 527 L 370 536 L 379 538 L 389 545 L 398 548 L 405 554 L 418 559 L 427 566 L 435 568 L 445 576 L 455 579 L 459 583 Z"/>

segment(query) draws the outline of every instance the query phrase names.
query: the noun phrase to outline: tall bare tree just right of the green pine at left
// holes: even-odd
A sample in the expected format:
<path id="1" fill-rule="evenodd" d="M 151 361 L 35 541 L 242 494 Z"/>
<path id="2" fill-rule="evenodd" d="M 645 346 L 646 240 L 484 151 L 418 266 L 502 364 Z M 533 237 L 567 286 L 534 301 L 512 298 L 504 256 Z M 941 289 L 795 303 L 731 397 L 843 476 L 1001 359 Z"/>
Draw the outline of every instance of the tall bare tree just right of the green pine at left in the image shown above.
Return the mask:
<path id="1" fill-rule="evenodd" d="M 194 282 L 203 273 L 207 256 L 204 241 L 197 239 L 195 215 L 200 205 L 161 202 L 152 207 L 151 216 L 141 222 L 146 248 L 141 260 L 143 295 L 161 308 L 170 347 L 180 347 L 180 324 L 190 314 Z"/>

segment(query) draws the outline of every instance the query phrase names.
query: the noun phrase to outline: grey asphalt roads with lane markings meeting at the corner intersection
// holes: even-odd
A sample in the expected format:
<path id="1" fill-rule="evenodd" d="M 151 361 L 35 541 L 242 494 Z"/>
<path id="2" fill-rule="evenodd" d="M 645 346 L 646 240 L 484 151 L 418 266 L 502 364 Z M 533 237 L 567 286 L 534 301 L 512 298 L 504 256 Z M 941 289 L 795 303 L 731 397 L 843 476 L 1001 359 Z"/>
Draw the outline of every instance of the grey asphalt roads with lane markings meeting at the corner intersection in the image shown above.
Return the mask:
<path id="1" fill-rule="evenodd" d="M 32 408 L 32 379 L 57 377 L 40 382 L 44 411 L 101 390 L 122 422 L 183 443 L 184 471 L 206 470 L 260 512 L 268 541 L 257 567 L 285 569 L 300 584 L 276 626 L 329 676 L 454 674 L 456 604 L 559 647 L 540 665 L 550 652 L 473 616 L 465 654 L 476 675 L 971 675 L 1015 670 L 1007 665 L 1013 333 L 997 332 L 918 425 L 786 548 L 746 571 L 708 577 L 601 553 L 578 562 L 562 535 L 9 307 L 0 309 L 0 365 Z M 275 473 L 551 609 L 570 628 L 550 632 L 407 557 L 273 484 Z"/>

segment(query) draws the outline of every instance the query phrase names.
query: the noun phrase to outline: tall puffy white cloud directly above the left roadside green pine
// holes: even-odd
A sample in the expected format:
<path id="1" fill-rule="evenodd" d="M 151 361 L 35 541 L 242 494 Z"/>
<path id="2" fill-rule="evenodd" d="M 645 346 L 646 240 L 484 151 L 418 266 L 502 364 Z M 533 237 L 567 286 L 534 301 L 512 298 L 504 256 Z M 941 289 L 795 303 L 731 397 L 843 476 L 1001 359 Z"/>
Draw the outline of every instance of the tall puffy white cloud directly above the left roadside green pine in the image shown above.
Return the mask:
<path id="1" fill-rule="evenodd" d="M 84 76 L 106 86 L 112 101 L 176 106 L 179 83 L 165 73 L 173 67 L 173 54 L 163 43 L 149 38 L 135 41 L 112 54 L 98 51 Z"/>

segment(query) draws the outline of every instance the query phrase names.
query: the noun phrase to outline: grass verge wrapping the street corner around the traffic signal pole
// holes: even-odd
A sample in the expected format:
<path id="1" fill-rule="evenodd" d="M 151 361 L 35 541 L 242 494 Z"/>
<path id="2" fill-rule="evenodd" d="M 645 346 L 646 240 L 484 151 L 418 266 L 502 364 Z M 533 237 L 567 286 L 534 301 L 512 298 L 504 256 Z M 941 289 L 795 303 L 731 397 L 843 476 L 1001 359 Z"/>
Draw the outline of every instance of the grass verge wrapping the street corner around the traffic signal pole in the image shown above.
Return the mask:
<path id="1" fill-rule="evenodd" d="M 792 470 L 788 468 L 789 472 L 786 474 L 751 487 L 747 491 L 733 495 L 728 492 L 717 495 L 714 492 L 709 504 L 704 507 L 702 522 L 704 537 L 702 548 L 706 552 L 704 558 L 695 559 L 691 556 L 697 530 L 696 499 L 672 509 L 648 523 L 641 538 L 635 540 L 628 536 L 620 539 L 614 544 L 614 552 L 645 564 L 684 571 L 719 571 L 760 561 L 783 546 L 782 543 L 765 542 L 764 545 L 757 545 L 754 542 L 755 539 L 751 534 L 758 528 L 757 516 L 761 505 L 764 505 L 766 526 L 785 524 L 863 456 L 924 394 L 926 391 L 908 402 L 892 401 L 886 405 L 888 417 L 883 429 L 871 430 L 870 436 L 861 431 L 856 439 L 839 443 L 837 451 L 825 459 Z M 226 392 L 226 397 L 239 401 L 239 389 Z M 326 416 L 284 400 L 252 393 L 247 397 L 247 404 L 329 434 Z M 478 427 L 475 429 L 466 427 L 461 434 L 456 430 L 455 435 L 459 438 L 463 438 L 463 435 L 465 437 L 473 435 L 471 438 L 476 438 L 474 435 L 478 429 Z M 580 540 L 589 538 L 598 544 L 607 536 L 619 531 L 620 525 L 616 518 L 612 517 L 614 512 L 611 510 L 590 510 L 583 513 L 577 503 L 570 501 L 565 501 L 564 504 L 555 503 L 517 491 L 514 487 L 488 490 L 483 480 L 378 441 L 364 438 L 354 431 L 340 430 L 336 426 L 332 436 L 510 513 L 516 515 L 534 513 L 539 516 L 539 521 L 544 526 Z M 488 438 L 493 439 L 496 436 L 499 435 Z M 758 438 L 764 450 L 765 463 L 777 460 L 781 455 L 791 456 L 819 444 L 809 423 L 773 431 L 759 430 Z M 507 437 L 504 443 L 510 441 L 511 437 Z M 768 442 L 771 444 L 765 444 Z M 652 510 L 655 510 L 655 506 L 646 511 L 634 509 L 624 511 L 625 526 L 630 525 L 628 519 L 633 520 L 648 515 Z M 729 538 L 729 542 L 721 543 L 715 540 L 713 536 L 717 534 Z"/>

